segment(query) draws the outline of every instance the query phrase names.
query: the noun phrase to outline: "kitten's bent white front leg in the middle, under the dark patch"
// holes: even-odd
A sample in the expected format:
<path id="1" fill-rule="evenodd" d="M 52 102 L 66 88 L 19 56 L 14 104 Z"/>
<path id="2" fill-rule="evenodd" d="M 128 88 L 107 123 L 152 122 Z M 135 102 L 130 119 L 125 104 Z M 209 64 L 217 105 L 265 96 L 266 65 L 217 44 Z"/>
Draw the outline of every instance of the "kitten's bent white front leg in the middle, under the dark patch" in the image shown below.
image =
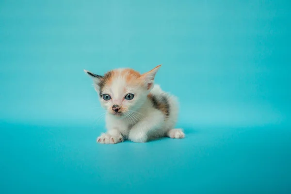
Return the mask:
<path id="1" fill-rule="evenodd" d="M 161 112 L 154 112 L 136 123 L 129 131 L 129 140 L 132 142 L 146 142 L 148 133 L 161 128 L 164 116 Z"/>

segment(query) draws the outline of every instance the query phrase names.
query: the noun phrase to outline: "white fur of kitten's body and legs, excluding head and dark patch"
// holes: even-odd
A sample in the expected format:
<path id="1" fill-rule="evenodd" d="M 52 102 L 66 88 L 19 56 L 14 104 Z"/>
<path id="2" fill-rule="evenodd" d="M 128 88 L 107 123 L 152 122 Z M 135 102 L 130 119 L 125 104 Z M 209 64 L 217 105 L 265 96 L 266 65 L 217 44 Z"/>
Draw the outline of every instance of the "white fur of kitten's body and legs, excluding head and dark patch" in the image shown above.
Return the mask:
<path id="1" fill-rule="evenodd" d="M 151 93 L 160 96 L 164 92 L 159 85 L 154 85 Z M 160 110 L 155 109 L 146 99 L 145 103 L 131 115 L 131 118 L 106 114 L 107 136 L 101 134 L 97 142 L 101 144 L 116 144 L 129 139 L 133 142 L 146 142 L 148 140 L 168 136 L 171 138 L 184 138 L 182 129 L 174 129 L 178 118 L 178 101 L 174 96 L 168 97 L 170 114 L 165 119 Z M 133 125 L 133 127 L 131 127 Z M 113 138 L 113 141 L 110 141 Z"/>

